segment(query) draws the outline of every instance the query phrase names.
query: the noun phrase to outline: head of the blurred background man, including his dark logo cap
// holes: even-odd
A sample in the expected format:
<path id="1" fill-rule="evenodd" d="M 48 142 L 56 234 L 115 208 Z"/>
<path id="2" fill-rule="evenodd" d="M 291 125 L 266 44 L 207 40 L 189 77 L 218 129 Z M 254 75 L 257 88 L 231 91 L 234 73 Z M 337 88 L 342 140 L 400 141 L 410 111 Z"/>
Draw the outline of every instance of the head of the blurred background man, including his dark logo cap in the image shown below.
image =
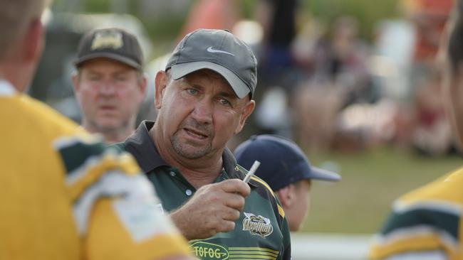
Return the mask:
<path id="1" fill-rule="evenodd" d="M 143 54 L 137 38 L 120 28 L 86 33 L 78 45 L 73 75 L 82 126 L 105 141 L 124 141 L 135 130 L 145 98 Z"/>

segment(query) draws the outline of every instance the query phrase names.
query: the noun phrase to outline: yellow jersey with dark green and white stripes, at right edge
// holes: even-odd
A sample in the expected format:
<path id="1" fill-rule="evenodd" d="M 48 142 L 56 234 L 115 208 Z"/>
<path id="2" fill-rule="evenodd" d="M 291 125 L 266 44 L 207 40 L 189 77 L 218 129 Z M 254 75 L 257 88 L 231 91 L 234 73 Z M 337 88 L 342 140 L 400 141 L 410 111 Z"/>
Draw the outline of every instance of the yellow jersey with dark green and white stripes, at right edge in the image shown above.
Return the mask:
<path id="1" fill-rule="evenodd" d="M 463 168 L 397 200 L 369 258 L 463 259 L 462 215 Z"/>

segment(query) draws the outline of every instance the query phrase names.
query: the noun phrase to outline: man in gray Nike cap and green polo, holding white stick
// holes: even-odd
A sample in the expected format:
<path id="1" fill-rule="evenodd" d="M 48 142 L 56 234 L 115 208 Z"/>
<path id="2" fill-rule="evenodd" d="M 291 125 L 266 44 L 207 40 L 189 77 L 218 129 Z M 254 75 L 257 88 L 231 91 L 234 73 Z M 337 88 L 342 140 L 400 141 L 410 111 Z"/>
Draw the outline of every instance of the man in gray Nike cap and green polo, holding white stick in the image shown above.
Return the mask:
<path id="1" fill-rule="evenodd" d="M 224 30 L 199 29 L 155 80 L 155 122 L 118 147 L 132 153 L 199 259 L 290 259 L 279 201 L 226 147 L 254 110 L 256 58 Z"/>

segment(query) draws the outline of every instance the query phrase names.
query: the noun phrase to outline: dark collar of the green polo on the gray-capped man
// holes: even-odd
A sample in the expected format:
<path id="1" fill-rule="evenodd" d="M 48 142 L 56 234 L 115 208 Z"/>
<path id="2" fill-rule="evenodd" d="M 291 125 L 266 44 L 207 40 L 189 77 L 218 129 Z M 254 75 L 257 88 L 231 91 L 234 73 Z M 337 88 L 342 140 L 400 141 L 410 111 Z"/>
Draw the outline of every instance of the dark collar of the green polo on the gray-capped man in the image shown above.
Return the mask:
<path id="1" fill-rule="evenodd" d="M 132 153 L 138 165 L 145 173 L 149 173 L 160 166 L 169 166 L 169 164 L 161 158 L 149 134 L 150 129 L 152 129 L 154 125 L 155 121 L 142 121 L 137 130 L 135 130 L 135 133 L 129 136 L 124 142 L 125 150 Z M 222 153 L 222 161 L 224 169 L 230 178 L 244 178 L 243 173 L 241 173 L 236 164 L 233 153 L 231 153 L 227 147 L 224 149 L 224 153 Z"/>

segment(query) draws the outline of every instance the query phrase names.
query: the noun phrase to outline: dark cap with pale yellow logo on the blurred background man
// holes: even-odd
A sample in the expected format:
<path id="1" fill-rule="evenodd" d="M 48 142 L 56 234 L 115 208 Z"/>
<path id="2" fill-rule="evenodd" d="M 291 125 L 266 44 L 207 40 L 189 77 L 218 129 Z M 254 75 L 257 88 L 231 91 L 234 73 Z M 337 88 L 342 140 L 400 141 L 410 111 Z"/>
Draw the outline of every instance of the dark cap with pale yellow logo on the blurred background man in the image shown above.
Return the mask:
<path id="1" fill-rule="evenodd" d="M 76 67 L 94 58 L 109 58 L 143 70 L 143 53 L 137 38 L 120 28 L 103 28 L 86 33 L 79 42 Z"/>

